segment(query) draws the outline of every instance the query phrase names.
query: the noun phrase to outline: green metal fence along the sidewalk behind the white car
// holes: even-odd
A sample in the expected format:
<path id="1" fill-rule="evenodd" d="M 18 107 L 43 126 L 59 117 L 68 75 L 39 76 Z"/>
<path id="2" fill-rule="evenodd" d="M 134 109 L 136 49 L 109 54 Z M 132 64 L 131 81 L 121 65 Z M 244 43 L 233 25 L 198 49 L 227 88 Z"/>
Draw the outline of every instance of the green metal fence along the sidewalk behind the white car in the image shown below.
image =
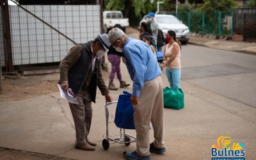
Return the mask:
<path id="1" fill-rule="evenodd" d="M 171 13 L 189 27 L 191 32 L 212 35 L 233 35 L 233 11 Z"/>

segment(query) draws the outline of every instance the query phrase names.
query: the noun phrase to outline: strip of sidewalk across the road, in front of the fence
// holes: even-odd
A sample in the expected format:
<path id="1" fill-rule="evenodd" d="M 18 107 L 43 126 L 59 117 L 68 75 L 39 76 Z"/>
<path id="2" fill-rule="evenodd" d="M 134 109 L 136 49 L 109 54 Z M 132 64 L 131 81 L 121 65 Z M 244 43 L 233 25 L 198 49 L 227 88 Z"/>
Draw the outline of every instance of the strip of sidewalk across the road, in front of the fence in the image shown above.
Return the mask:
<path id="1" fill-rule="evenodd" d="M 256 55 L 255 42 L 236 42 L 232 40 L 220 40 L 191 36 L 189 39 L 189 44 L 201 45 L 204 47 L 211 47 L 214 49 L 222 49 L 225 51 L 236 51 Z"/>

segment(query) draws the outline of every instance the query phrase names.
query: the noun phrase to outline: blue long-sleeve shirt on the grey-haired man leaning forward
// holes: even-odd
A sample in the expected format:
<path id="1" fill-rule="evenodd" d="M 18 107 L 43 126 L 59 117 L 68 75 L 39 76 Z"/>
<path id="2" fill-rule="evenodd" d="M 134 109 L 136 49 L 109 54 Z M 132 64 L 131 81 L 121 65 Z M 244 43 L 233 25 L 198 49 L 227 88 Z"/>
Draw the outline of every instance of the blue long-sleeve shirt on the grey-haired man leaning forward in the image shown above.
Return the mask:
<path id="1" fill-rule="evenodd" d="M 125 65 L 133 81 L 132 95 L 139 96 L 143 83 L 162 74 L 156 56 L 142 40 L 128 38 L 123 47 Z"/>

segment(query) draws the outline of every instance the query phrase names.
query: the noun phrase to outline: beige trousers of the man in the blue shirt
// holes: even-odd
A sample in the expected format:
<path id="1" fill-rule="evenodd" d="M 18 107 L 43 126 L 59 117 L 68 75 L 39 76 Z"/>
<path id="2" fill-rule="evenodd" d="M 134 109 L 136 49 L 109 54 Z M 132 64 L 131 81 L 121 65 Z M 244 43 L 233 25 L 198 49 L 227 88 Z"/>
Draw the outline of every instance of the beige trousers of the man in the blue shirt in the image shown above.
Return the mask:
<path id="1" fill-rule="evenodd" d="M 150 122 L 154 129 L 154 146 L 164 148 L 163 124 L 164 102 L 163 81 L 161 76 L 145 82 L 140 92 L 140 104 L 134 105 L 134 124 L 136 127 L 136 152 L 140 156 L 148 156 Z"/>

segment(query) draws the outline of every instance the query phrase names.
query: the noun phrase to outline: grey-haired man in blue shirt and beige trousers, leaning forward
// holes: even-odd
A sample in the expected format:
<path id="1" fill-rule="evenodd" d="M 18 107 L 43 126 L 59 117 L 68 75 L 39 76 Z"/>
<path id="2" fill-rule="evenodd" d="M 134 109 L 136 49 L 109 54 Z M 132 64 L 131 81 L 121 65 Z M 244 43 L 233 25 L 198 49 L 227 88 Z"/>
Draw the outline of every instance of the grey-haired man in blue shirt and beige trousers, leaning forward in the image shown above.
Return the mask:
<path id="1" fill-rule="evenodd" d="M 150 47 L 141 40 L 128 38 L 119 28 L 108 34 L 116 51 L 123 52 L 125 65 L 133 81 L 131 103 L 137 144 L 134 152 L 124 153 L 127 159 L 150 159 L 150 152 L 165 152 L 163 140 L 163 82 L 161 69 Z M 154 142 L 149 144 L 150 122 Z"/>

